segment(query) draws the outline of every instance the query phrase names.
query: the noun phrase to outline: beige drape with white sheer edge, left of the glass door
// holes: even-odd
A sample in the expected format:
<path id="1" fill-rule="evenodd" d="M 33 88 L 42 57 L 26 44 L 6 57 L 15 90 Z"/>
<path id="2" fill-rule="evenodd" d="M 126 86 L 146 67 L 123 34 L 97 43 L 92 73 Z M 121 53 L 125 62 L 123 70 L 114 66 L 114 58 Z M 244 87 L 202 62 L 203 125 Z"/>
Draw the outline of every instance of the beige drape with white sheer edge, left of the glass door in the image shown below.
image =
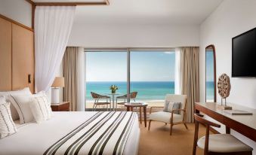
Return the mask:
<path id="1" fill-rule="evenodd" d="M 84 71 L 83 47 L 66 47 L 63 56 L 63 99 L 70 102 L 72 111 L 85 111 Z"/>

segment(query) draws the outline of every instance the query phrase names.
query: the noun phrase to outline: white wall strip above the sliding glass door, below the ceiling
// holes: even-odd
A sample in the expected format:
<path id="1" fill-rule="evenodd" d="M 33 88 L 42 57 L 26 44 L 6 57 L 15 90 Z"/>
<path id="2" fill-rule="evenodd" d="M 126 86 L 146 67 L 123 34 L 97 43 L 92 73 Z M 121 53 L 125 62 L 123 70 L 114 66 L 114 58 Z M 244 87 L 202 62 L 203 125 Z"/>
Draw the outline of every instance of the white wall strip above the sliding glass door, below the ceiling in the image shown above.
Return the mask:
<path id="1" fill-rule="evenodd" d="M 74 23 L 68 45 L 76 47 L 199 46 L 199 26 Z"/>

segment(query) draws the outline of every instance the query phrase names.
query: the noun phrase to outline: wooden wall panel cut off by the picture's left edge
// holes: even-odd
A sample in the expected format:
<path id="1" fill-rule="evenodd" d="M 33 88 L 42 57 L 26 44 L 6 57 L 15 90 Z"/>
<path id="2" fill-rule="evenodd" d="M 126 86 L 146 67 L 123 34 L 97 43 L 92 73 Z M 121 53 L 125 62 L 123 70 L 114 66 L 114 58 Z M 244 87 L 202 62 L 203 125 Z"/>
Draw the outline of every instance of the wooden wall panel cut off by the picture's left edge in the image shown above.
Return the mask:
<path id="1" fill-rule="evenodd" d="M 11 90 L 11 22 L 0 18 L 0 91 Z"/>

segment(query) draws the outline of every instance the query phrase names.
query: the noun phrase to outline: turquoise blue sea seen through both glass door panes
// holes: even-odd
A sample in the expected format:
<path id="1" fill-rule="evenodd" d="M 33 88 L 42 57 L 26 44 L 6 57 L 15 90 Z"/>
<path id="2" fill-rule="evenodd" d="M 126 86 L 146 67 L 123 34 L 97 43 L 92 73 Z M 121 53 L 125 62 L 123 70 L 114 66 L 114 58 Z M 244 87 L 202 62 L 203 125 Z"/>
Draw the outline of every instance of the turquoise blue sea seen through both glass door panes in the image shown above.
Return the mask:
<path id="1" fill-rule="evenodd" d="M 106 94 L 111 93 L 109 87 L 116 85 L 119 90 L 116 93 L 125 95 L 127 93 L 126 82 L 87 82 L 86 83 L 86 99 L 92 100 L 91 92 Z M 150 82 L 135 82 L 131 81 L 131 92 L 137 92 L 137 100 L 164 100 L 167 93 L 174 94 L 174 81 L 150 81 Z"/>

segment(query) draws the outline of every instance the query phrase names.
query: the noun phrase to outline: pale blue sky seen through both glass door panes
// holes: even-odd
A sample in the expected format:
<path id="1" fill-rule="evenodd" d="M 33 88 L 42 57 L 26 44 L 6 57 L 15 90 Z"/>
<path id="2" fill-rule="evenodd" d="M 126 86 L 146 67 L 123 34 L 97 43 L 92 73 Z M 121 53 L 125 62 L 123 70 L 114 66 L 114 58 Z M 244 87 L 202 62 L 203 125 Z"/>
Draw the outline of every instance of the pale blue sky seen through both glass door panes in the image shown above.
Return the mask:
<path id="1" fill-rule="evenodd" d="M 131 51 L 131 81 L 174 81 L 174 52 Z M 86 81 L 126 81 L 126 52 L 87 52 Z"/>

